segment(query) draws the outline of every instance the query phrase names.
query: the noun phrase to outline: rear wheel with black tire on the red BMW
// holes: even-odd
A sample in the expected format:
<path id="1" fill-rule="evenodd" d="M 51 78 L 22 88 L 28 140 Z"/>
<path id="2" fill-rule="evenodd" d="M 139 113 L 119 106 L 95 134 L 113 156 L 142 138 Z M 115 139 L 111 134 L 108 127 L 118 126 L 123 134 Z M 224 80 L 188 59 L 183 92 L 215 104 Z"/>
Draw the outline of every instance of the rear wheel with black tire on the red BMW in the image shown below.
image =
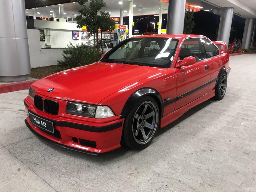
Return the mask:
<path id="1" fill-rule="evenodd" d="M 217 85 L 215 87 L 215 96 L 214 99 L 221 100 L 225 96 L 227 90 L 227 74 L 224 71 L 221 75 L 219 80 L 217 81 Z"/>

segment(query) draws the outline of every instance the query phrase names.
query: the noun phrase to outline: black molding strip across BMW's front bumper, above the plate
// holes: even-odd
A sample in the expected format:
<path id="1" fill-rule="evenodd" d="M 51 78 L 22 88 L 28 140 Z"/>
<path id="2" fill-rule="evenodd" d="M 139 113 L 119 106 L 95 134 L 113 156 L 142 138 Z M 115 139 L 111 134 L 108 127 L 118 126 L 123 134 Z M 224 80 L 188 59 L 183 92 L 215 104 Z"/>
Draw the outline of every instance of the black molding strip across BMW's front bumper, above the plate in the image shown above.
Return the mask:
<path id="1" fill-rule="evenodd" d="M 25 103 L 26 102 L 24 101 L 24 104 Z M 25 106 L 27 107 L 28 105 L 25 104 Z M 121 127 L 122 124 L 123 124 L 123 121 L 120 121 L 120 122 L 114 123 L 112 125 L 107 125 L 107 126 L 103 126 L 103 127 L 93 127 L 93 126 L 89 126 L 89 125 L 70 123 L 70 122 L 66 122 L 66 121 L 54 121 L 52 119 L 48 119 L 48 118 L 42 117 L 42 116 L 40 116 L 38 114 L 35 114 L 31 110 L 29 110 L 29 109 L 28 109 L 28 111 L 31 112 L 34 115 L 37 115 L 40 118 L 43 118 L 45 120 L 53 122 L 54 125 L 57 125 L 59 127 L 71 127 L 71 128 L 74 128 L 74 129 L 80 129 L 80 130 L 90 131 L 90 132 L 95 132 L 95 133 L 102 133 L 102 132 L 111 131 L 113 129 L 117 129 L 117 128 Z"/>

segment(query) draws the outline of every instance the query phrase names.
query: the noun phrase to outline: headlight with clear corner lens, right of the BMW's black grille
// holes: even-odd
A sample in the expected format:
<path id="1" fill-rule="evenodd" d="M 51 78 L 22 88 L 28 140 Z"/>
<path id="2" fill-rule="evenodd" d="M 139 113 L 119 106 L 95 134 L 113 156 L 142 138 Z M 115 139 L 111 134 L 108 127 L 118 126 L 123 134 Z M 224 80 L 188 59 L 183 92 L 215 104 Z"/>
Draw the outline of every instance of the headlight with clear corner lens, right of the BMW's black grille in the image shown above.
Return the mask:
<path id="1" fill-rule="evenodd" d="M 97 106 L 71 101 L 68 102 L 66 113 L 83 117 L 93 117 L 97 119 L 115 116 L 108 106 Z"/>

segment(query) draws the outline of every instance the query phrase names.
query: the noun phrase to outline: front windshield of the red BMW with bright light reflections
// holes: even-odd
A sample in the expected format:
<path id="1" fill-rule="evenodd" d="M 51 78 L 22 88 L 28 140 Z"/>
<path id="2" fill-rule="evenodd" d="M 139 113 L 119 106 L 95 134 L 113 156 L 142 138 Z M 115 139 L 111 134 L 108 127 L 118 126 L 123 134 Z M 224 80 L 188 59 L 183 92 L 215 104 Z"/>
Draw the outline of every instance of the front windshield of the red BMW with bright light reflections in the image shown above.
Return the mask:
<path id="1" fill-rule="evenodd" d="M 122 41 L 100 61 L 169 68 L 178 40 L 162 37 L 131 38 Z"/>

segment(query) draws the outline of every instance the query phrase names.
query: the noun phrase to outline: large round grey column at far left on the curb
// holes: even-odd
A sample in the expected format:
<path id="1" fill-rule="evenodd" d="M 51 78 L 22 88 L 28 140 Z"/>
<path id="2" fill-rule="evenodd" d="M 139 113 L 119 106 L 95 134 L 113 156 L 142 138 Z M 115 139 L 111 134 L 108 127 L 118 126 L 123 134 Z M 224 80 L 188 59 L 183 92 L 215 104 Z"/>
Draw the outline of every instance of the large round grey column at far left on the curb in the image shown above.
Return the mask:
<path id="1" fill-rule="evenodd" d="M 24 81 L 30 71 L 24 0 L 0 1 L 0 81 Z"/>

